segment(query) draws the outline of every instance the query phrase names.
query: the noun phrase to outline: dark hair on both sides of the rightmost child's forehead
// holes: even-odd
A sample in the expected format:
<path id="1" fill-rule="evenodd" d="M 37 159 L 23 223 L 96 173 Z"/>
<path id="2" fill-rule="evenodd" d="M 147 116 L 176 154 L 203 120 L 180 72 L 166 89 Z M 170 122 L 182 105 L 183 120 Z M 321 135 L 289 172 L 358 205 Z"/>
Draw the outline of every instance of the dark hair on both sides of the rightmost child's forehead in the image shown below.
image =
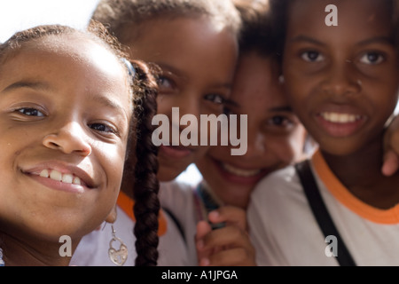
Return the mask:
<path id="1" fill-rule="evenodd" d="M 276 38 L 277 49 L 279 56 L 282 57 L 284 45 L 286 42 L 286 27 L 288 23 L 288 9 L 294 0 L 270 0 L 270 12 L 273 33 Z M 304 0 L 306 1 L 306 0 Z M 380 0 L 381 3 L 389 5 L 391 11 L 392 26 L 394 28 L 394 43 L 398 41 L 398 19 L 399 19 L 399 4 L 398 0 Z"/>

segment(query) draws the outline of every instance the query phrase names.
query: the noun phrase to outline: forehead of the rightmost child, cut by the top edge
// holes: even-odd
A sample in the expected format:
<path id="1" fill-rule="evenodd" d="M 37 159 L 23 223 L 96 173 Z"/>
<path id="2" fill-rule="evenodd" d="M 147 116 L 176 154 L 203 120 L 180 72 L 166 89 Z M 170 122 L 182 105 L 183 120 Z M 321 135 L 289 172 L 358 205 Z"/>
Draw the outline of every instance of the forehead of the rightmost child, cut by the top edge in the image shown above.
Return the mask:
<path id="1" fill-rule="evenodd" d="M 391 7 L 388 0 L 293 0 L 288 10 L 289 28 L 329 28 L 325 12 L 329 4 L 337 7 L 339 28 L 391 27 Z"/>

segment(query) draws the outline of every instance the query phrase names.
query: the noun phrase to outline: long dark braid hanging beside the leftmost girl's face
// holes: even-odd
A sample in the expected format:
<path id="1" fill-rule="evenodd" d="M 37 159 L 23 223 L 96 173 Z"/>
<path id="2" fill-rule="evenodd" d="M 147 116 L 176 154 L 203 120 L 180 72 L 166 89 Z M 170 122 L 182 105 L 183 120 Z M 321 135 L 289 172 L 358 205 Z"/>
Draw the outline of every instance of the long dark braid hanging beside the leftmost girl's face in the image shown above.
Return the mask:
<path id="1" fill-rule="evenodd" d="M 155 266 L 158 260 L 158 215 L 160 201 L 158 198 L 158 147 L 153 145 L 153 115 L 157 112 L 156 82 L 149 77 L 152 71 L 147 65 L 133 62 L 136 68 L 135 114 L 137 117 L 137 146 L 135 166 L 135 185 L 133 208 L 136 217 L 134 233 L 137 238 L 137 266 Z"/>

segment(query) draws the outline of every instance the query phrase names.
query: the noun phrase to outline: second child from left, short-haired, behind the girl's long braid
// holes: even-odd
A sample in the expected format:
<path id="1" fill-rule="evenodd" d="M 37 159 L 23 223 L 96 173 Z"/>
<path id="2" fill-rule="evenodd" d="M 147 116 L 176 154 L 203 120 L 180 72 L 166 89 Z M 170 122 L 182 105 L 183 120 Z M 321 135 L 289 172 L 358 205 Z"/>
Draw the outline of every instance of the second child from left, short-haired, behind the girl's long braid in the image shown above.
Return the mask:
<path id="1" fill-rule="evenodd" d="M 168 116 L 170 127 L 176 127 L 179 134 L 184 126 L 173 124 L 172 107 L 179 107 L 180 116 L 193 114 L 200 118 L 200 114 L 222 114 L 223 102 L 230 96 L 238 57 L 240 18 L 231 0 L 102 0 L 92 19 L 103 23 L 113 36 L 129 46 L 130 58 L 159 67 L 157 114 Z M 167 140 L 171 142 L 172 138 Z M 177 177 L 207 149 L 208 146 L 182 146 L 180 143 L 179 146 L 160 146 L 157 175 L 160 186 Z M 137 201 L 136 191 L 142 190 L 135 186 L 132 193 L 131 183 L 131 175 L 126 175 L 118 199 L 116 221 L 118 232 L 124 233 L 123 241 L 129 243 L 129 249 L 134 241 L 133 226 L 135 232 L 142 233 L 148 227 L 144 225 L 142 231 L 138 221 L 135 224 L 137 206 L 131 216 L 133 200 Z M 151 191 L 149 188 L 147 193 L 151 194 Z M 145 210 L 158 213 L 150 204 Z M 126 265 L 191 264 L 178 225 L 163 210 L 160 210 L 159 220 L 159 262 L 149 256 L 146 259 L 137 257 L 133 263 L 135 258 L 129 256 Z M 74 257 L 75 264 L 112 265 L 104 253 L 103 257 L 93 255 L 97 254 L 98 247 L 106 247 L 100 235 L 101 232 L 94 232 L 83 240 L 82 251 L 78 249 L 78 255 Z M 148 234 L 146 240 L 146 245 L 152 246 L 158 241 L 152 234 Z M 136 246 L 141 246 L 138 241 Z M 130 255 L 135 253 L 129 250 Z"/>

